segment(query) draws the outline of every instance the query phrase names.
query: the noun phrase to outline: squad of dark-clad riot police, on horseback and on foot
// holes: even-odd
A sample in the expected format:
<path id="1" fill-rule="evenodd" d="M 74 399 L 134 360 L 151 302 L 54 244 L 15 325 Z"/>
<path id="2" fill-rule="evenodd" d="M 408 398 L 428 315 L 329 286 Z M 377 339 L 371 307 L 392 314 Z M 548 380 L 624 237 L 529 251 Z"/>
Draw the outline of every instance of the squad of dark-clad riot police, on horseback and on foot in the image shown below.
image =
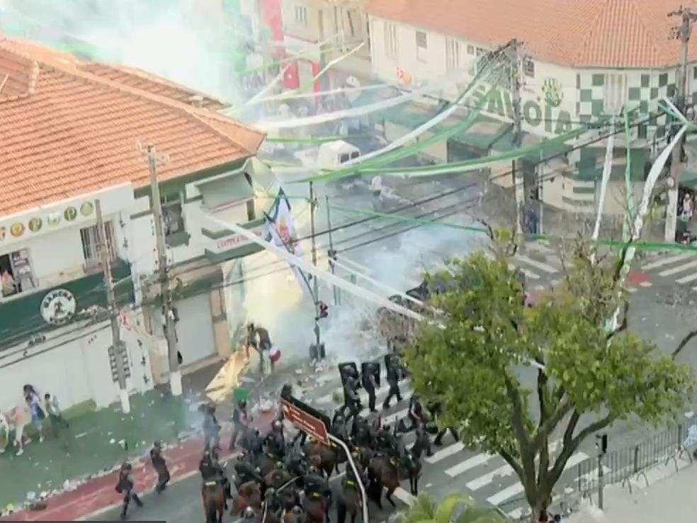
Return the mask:
<path id="1" fill-rule="evenodd" d="M 407 376 L 404 366 L 398 357 L 386 359 L 387 383 L 389 392 L 382 405 L 384 409 L 390 407 L 392 398 L 397 402 L 402 401 L 399 390 L 399 382 Z M 387 458 L 390 463 L 397 463 L 397 468 L 406 470 L 406 475 L 398 473 L 397 480 L 416 476 L 421 470 L 421 456 L 432 454 L 431 437 L 436 434 L 433 444 L 440 446 L 442 439 L 449 430 L 457 440 L 457 434 L 453 429 L 442 429 L 438 432 L 435 420 L 440 412 L 440 405 L 421 405 L 419 398 L 412 395 L 409 399 L 407 419 L 398 420 L 392 426 L 382 423 L 378 411 L 375 409 L 375 390 L 378 386 L 378 373 L 375 374 L 363 367 L 358 373 L 355 366 L 341 369 L 341 378 L 344 383 L 344 405 L 334 412 L 331 418 L 330 432 L 342 439 L 351 450 L 353 461 L 356 464 L 358 477 L 351 466 L 346 465 L 346 475 L 342 479 L 341 490 L 346 492 L 351 488 L 358 488 L 356 481 L 361 481 L 368 493 L 368 500 L 382 507 L 381 497 L 385 489 L 383 485 L 384 474 L 380 473 L 375 463 L 381 457 Z M 358 389 L 363 388 L 368 395 L 368 413 L 362 415 L 363 405 L 358 395 Z M 288 398 L 293 395 L 292 386 L 286 384 L 281 390 L 280 397 Z M 241 453 L 232 461 L 234 474 L 230 480 L 225 467 L 218 461 L 221 449 L 220 423 L 215 417 L 215 405 L 201 405 L 199 407 L 203 415 L 203 436 L 205 440 L 203 459 L 200 461 L 199 471 L 203 484 L 216 482 L 222 486 L 225 492 L 225 509 L 228 501 L 232 514 L 241 514 L 246 520 L 255 523 L 315 523 L 307 511 L 307 500 L 321 497 L 324 500 L 325 521 L 329 521 L 329 506 L 336 501 L 339 523 L 343 523 L 346 515 L 346 499 L 344 495 L 332 500 L 332 491 L 329 488 L 329 478 L 333 471 L 339 471 L 339 463 L 346 461 L 342 456 L 343 451 L 338 447 L 324 447 L 319 442 L 308 437 L 304 432 L 293 429 L 293 426 L 283 420 L 283 412 L 278 410 L 278 417 L 273 422 L 268 434 L 262 436 L 258 429 L 247 427 L 251 421 L 246 400 L 239 400 L 234 407 L 232 415 L 232 437 L 227 449 L 241 450 Z M 402 442 L 402 435 L 407 432 L 415 432 L 415 442 L 411 449 Z M 150 451 L 152 466 L 158 474 L 158 482 L 155 492 L 162 493 L 169 482 L 169 470 L 162 456 L 162 446 L 156 442 Z M 142 506 L 140 497 L 135 493 L 132 480 L 132 466 L 123 463 L 121 467 L 116 490 L 123 493 L 122 519 L 127 517 L 128 507 L 133 501 L 137 506 Z M 416 478 L 418 482 L 418 478 Z M 258 488 L 258 499 L 254 499 L 254 488 L 242 489 L 244 485 Z M 416 494 L 418 487 L 412 483 L 412 494 Z M 236 491 L 236 495 L 233 494 Z M 244 490 L 244 491 L 243 491 Z M 393 489 L 394 490 L 394 489 Z M 355 497 L 355 496 L 353 496 Z M 239 501 L 238 501 L 239 500 Z M 388 488 L 387 500 L 392 503 Z M 341 515 L 344 514 L 344 515 Z M 353 518 L 355 520 L 355 517 Z M 317 523 L 321 523 L 317 522 Z"/>

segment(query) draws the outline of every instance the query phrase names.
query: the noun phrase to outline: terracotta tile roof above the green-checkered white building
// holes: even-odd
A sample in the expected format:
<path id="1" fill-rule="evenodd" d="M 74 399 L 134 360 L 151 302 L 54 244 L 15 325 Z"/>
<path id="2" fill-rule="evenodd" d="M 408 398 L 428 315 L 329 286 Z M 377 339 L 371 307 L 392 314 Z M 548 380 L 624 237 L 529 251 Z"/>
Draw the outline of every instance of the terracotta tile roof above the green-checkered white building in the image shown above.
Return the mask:
<path id="1" fill-rule="evenodd" d="M 694 0 L 369 0 L 368 12 L 496 47 L 523 40 L 532 57 L 574 67 L 674 67 L 679 18 L 667 13 Z M 690 42 L 697 60 L 697 38 Z"/>

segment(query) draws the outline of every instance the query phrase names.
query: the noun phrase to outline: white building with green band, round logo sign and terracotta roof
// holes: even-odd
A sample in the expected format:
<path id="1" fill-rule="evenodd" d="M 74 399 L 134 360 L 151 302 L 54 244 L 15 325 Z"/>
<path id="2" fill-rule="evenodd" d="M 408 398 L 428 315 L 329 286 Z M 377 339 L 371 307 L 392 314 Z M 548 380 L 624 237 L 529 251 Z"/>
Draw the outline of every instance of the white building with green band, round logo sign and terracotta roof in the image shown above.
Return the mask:
<path id="1" fill-rule="evenodd" d="M 166 154 L 158 178 L 183 363 L 227 356 L 220 262 L 259 247 L 205 215 L 261 227 L 273 184 L 254 160 L 263 134 L 217 114 L 224 103 L 164 79 L 17 40 L 0 40 L 0 79 L 0 410 L 18 402 L 25 383 L 55 393 L 64 407 L 118 398 L 96 200 L 129 388 L 168 378 L 149 169 L 139 144 Z"/>

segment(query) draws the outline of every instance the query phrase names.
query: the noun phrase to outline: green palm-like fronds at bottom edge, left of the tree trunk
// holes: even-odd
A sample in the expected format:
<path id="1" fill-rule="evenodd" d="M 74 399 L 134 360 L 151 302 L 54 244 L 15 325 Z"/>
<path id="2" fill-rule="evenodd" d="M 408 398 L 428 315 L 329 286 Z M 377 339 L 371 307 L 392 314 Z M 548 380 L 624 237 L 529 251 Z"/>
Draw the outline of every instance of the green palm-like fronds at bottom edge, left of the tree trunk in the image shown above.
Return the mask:
<path id="1" fill-rule="evenodd" d="M 475 506 L 468 496 L 451 494 L 436 503 L 428 494 L 419 494 L 402 523 L 506 523 L 506 518 L 492 508 Z"/>

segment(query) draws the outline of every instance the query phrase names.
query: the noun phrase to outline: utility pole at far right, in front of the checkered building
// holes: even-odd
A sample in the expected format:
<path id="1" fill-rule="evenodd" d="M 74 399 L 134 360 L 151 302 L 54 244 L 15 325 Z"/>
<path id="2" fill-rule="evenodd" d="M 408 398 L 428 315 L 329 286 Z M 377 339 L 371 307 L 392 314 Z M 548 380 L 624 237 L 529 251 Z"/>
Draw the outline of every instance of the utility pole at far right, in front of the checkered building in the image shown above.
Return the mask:
<path id="1" fill-rule="evenodd" d="M 675 106 L 685 113 L 685 94 L 687 90 L 687 55 L 690 36 L 692 35 L 692 23 L 697 20 L 697 13 L 693 13 L 689 7 L 681 7 L 678 11 L 668 13 L 668 16 L 679 16 L 680 26 L 673 28 L 672 37 L 680 40 L 680 69 L 678 81 L 675 86 Z M 680 189 L 680 169 L 682 161 L 682 145 L 678 144 L 673 149 L 668 179 L 668 207 L 666 209 L 666 242 L 675 241 L 675 232 L 678 218 L 678 193 Z"/>

